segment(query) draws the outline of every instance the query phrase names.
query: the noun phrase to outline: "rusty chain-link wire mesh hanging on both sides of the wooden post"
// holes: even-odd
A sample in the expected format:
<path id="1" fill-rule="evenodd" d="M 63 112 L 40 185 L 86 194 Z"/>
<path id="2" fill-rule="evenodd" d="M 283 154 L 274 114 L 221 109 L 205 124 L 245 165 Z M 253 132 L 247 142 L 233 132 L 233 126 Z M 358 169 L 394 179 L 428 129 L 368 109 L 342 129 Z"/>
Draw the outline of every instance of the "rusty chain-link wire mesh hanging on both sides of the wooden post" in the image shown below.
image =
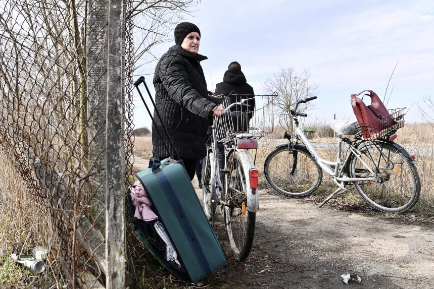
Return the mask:
<path id="1" fill-rule="evenodd" d="M 135 4 L 124 4 L 128 15 Z M 1 145 L 28 188 L 27 202 L 39 204 L 55 235 L 31 236 L 14 249 L 26 252 L 41 245 L 31 240 L 42 240 L 59 251 L 50 265 L 58 284 L 59 272 L 72 287 L 92 287 L 92 279 L 104 283 L 108 1 L 5 0 L 0 10 Z M 124 19 L 123 69 L 129 76 L 132 19 Z M 133 160 L 131 87 L 125 77 L 125 132 L 119 137 L 127 176 Z"/>

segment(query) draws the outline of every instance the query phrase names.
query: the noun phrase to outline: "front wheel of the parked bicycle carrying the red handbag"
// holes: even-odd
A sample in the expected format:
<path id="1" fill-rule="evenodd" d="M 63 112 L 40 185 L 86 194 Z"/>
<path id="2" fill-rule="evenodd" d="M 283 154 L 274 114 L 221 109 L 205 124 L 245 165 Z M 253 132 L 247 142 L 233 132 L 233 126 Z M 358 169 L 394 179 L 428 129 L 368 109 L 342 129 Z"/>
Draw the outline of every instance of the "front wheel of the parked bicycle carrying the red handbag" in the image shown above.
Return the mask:
<path id="1" fill-rule="evenodd" d="M 307 196 L 322 181 L 321 167 L 301 145 L 281 146 L 272 151 L 265 159 L 264 175 L 274 190 L 290 197 Z"/>

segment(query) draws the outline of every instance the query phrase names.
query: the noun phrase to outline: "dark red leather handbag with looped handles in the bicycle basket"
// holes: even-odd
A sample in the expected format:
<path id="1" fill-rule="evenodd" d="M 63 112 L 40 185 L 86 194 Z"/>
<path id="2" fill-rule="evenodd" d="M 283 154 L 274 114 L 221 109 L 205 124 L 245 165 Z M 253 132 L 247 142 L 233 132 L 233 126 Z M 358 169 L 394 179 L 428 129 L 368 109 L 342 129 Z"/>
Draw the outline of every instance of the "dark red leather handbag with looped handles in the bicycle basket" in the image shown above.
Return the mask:
<path id="1" fill-rule="evenodd" d="M 362 99 L 357 97 L 363 92 L 367 92 L 364 95 L 371 97 L 370 105 L 366 105 Z M 360 130 L 365 139 L 393 125 L 390 112 L 381 102 L 378 95 L 372 90 L 367 89 L 357 94 L 352 94 L 351 105 L 353 106 L 354 114 L 356 114 L 357 122 L 359 123 Z"/>

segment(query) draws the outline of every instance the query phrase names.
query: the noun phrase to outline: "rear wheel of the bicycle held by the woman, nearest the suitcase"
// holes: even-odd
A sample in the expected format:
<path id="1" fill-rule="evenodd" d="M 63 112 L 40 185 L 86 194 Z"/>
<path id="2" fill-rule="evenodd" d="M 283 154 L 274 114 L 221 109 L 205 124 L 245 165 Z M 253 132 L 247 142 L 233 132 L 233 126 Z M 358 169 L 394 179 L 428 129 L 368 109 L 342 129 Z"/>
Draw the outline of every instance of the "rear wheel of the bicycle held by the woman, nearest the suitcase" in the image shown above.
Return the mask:
<path id="1" fill-rule="evenodd" d="M 235 151 L 230 155 L 227 167 L 229 168 L 226 177 L 227 185 L 223 191 L 223 200 L 226 202 L 224 206 L 226 233 L 233 257 L 235 260 L 243 261 L 252 249 L 256 213 L 246 209 L 246 170 L 238 152 Z"/>

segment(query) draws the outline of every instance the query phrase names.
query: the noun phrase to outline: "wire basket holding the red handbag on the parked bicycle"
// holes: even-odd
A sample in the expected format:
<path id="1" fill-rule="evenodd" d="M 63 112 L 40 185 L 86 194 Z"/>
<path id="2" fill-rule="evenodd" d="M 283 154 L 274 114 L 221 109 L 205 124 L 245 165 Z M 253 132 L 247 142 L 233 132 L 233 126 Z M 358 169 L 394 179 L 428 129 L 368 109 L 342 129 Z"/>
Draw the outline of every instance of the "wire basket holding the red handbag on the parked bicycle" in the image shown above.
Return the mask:
<path id="1" fill-rule="evenodd" d="M 404 108 L 389 109 L 390 114 L 376 122 L 354 123 L 364 139 L 383 138 L 404 127 Z"/>

